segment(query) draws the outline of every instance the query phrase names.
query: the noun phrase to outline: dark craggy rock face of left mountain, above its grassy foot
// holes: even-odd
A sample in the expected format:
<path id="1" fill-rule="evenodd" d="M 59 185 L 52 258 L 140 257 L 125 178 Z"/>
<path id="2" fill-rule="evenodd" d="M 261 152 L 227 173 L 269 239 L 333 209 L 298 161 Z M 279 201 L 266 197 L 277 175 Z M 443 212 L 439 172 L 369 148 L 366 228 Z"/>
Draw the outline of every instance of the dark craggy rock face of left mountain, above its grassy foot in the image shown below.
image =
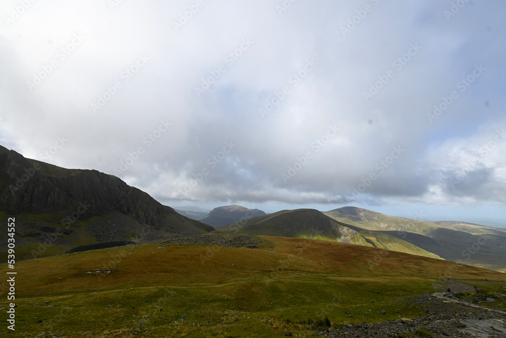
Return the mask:
<path id="1" fill-rule="evenodd" d="M 6 214 L 72 213 L 85 208 L 79 220 L 118 211 L 140 224 L 160 229 L 162 214 L 186 218 L 119 178 L 96 170 L 66 170 L 24 158 L 0 147 L 0 210 Z M 212 229 L 208 229 L 212 230 Z"/>

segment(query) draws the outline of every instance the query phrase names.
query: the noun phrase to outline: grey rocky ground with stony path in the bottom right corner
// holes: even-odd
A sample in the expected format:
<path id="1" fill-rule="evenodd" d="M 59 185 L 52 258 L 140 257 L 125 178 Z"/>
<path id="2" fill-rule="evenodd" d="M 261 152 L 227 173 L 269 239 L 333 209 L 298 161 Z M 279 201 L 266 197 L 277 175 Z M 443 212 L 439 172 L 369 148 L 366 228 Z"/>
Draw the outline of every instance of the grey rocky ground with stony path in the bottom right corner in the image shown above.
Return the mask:
<path id="1" fill-rule="evenodd" d="M 453 287 L 453 288 L 452 288 Z M 472 287 L 450 282 L 455 292 L 469 292 Z M 346 325 L 316 331 L 323 337 L 479 337 L 506 338 L 506 312 L 470 303 L 455 293 L 436 292 L 409 299 L 420 305 L 426 317 L 400 318 L 395 321 Z M 476 302 L 476 300 L 475 300 Z M 481 302 L 480 302 L 481 303 Z M 432 334 L 431 334 L 432 333 Z"/>

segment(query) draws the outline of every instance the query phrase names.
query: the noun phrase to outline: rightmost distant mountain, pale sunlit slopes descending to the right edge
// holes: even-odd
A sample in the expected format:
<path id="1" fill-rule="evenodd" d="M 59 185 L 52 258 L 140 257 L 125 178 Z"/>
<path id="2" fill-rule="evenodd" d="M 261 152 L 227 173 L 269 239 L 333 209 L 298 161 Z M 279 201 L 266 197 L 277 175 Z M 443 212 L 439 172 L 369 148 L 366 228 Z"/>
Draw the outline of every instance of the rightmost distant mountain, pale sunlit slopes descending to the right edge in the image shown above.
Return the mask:
<path id="1" fill-rule="evenodd" d="M 465 222 L 427 222 L 353 206 L 324 213 L 363 229 L 402 238 L 448 261 L 506 272 L 506 230 Z"/>

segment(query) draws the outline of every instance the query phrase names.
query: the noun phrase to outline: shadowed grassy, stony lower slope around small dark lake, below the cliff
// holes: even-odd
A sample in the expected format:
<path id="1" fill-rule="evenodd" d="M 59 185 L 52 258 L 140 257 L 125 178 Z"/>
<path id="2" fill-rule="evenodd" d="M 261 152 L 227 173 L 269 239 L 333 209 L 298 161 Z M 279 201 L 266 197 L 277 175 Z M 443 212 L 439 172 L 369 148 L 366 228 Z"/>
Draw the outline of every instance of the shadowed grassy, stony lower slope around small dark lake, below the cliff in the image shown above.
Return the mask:
<path id="1" fill-rule="evenodd" d="M 171 235 L 173 231 L 199 233 L 215 229 L 207 224 L 186 219 L 176 219 L 172 214 L 161 215 L 163 222 L 179 225 L 176 229 L 149 229 L 121 214 L 112 212 L 107 216 L 94 216 L 87 220 L 77 219 L 72 224 L 62 222 L 68 214 L 22 214 L 16 216 L 16 259 L 17 261 L 63 254 L 82 245 L 131 240 L 146 242 Z M 7 259 L 7 219 L 11 217 L 0 212 L 0 263 Z"/>

